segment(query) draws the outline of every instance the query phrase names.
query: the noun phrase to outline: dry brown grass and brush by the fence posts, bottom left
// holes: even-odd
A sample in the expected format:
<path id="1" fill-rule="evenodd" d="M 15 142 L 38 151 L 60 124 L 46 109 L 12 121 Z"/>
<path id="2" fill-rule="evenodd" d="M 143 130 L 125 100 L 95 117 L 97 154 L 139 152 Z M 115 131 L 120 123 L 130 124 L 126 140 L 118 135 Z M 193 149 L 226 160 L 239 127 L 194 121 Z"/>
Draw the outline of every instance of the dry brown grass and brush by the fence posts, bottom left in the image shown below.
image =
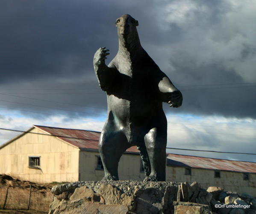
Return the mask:
<path id="1" fill-rule="evenodd" d="M 0 209 L 3 208 L 6 190 L 9 187 L 5 208 L 10 210 L 26 210 L 30 185 L 32 186 L 30 197 L 30 209 L 44 211 L 47 213 L 49 210 L 50 202 L 52 200 L 52 193 L 50 191 L 52 185 L 39 185 L 29 181 L 21 181 L 19 179 L 14 179 L 11 176 L 7 175 L 0 175 Z M 2 211 L 0 211 L 0 213 L 1 212 Z M 21 212 L 17 211 L 16 213 Z"/>

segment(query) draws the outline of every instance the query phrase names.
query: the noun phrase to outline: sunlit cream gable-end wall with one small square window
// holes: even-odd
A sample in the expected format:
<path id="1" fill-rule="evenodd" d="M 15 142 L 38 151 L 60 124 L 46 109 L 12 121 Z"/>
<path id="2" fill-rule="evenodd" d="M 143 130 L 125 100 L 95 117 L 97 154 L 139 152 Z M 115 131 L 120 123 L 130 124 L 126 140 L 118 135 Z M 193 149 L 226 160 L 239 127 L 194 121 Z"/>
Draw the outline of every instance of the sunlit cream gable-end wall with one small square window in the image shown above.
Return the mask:
<path id="1" fill-rule="evenodd" d="M 28 167 L 29 156 L 40 156 L 40 169 Z M 53 136 L 27 133 L 0 149 L 0 174 L 33 182 L 77 181 L 78 162 L 79 149 Z"/>

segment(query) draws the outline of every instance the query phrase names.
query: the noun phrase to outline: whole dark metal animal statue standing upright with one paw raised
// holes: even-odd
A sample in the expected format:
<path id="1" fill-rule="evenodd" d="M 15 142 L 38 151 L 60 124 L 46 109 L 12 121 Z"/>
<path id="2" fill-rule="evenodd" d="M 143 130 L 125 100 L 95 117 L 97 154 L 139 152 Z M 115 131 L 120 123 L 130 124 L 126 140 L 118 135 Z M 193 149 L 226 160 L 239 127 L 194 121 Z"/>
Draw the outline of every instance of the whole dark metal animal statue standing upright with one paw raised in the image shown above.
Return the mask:
<path id="1" fill-rule="evenodd" d="M 125 14 L 116 20 L 119 49 L 105 64 L 108 49 L 94 55 L 100 88 L 107 94 L 108 115 L 99 142 L 105 176 L 118 180 L 118 162 L 136 145 L 144 165 L 144 181 L 165 181 L 167 121 L 162 102 L 182 104 L 182 94 L 142 48 L 138 21 Z"/>

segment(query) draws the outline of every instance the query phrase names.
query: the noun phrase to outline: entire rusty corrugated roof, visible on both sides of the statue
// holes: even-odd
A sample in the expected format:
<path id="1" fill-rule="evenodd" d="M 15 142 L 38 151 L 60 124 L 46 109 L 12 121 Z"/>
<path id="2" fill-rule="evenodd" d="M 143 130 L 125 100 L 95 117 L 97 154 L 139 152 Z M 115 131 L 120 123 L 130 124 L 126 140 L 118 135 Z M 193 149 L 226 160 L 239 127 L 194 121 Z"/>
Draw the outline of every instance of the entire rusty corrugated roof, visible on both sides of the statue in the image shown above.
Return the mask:
<path id="1" fill-rule="evenodd" d="M 46 127 L 38 125 L 34 125 L 34 127 L 39 128 L 51 135 L 57 136 L 57 138 L 62 139 L 63 141 L 68 142 L 71 145 L 79 147 L 80 149 L 98 150 L 100 132 L 58 127 Z M 136 146 L 132 146 L 127 149 L 126 152 L 138 153 L 138 149 Z M 167 165 L 256 173 L 256 162 L 234 161 L 169 153 L 167 154 Z"/>

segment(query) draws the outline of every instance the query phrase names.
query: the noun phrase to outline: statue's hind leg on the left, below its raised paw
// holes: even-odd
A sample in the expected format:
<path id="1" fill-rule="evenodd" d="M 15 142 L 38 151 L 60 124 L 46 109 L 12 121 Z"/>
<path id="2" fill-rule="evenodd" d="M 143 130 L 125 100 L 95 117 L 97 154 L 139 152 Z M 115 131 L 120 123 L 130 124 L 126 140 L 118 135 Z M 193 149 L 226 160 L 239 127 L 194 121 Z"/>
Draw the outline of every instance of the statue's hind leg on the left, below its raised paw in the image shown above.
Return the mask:
<path id="1" fill-rule="evenodd" d="M 112 132 L 104 128 L 99 142 L 100 157 L 103 163 L 105 176 L 102 180 L 119 180 L 118 162 L 128 145 L 127 138 L 120 131 Z"/>

